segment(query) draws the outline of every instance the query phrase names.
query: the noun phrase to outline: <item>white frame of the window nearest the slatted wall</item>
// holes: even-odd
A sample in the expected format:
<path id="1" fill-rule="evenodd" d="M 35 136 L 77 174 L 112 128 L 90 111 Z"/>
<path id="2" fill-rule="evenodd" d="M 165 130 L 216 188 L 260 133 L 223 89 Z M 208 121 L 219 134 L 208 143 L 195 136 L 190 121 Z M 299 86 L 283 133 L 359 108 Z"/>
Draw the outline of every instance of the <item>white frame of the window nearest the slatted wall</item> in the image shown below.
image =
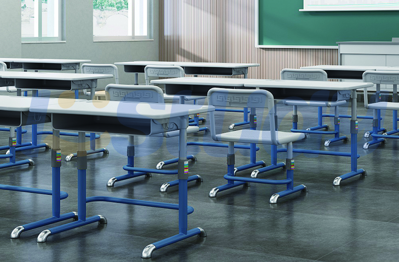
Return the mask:
<path id="1" fill-rule="evenodd" d="M 134 6 L 135 0 L 130 0 L 132 6 Z M 93 9 L 94 12 L 94 9 Z M 132 24 L 131 30 L 132 35 L 129 36 L 94 36 L 93 31 L 93 42 L 122 42 L 122 41 L 153 41 L 154 40 L 154 2 L 153 0 L 147 0 L 147 35 L 134 35 L 134 10 L 132 10 Z M 93 24 L 94 30 L 94 24 Z"/>

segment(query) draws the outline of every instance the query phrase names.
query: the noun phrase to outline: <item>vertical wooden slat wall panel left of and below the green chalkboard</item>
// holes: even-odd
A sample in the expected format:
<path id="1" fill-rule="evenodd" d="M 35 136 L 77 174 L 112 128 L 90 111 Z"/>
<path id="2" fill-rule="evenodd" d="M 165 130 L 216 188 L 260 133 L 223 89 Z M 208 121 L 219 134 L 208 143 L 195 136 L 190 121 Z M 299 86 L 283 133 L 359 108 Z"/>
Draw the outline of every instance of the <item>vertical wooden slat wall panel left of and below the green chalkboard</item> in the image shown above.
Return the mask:
<path id="1" fill-rule="evenodd" d="M 260 63 L 250 78 L 284 68 L 338 64 L 337 49 L 256 48 L 255 1 L 160 0 L 160 60 Z"/>

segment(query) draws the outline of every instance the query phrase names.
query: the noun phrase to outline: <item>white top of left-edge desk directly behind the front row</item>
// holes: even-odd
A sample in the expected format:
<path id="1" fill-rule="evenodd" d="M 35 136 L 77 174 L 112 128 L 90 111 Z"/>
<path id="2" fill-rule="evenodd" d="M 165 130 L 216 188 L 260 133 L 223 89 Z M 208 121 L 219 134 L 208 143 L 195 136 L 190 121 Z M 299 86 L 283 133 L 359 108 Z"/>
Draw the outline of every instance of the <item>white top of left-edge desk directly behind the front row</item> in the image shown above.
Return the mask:
<path id="1" fill-rule="evenodd" d="M 80 73 L 42 73 L 42 72 L 0 72 L 0 78 L 8 79 L 41 79 L 41 80 L 64 80 L 64 81 L 79 81 L 113 78 L 113 75 L 102 74 L 80 74 Z"/>

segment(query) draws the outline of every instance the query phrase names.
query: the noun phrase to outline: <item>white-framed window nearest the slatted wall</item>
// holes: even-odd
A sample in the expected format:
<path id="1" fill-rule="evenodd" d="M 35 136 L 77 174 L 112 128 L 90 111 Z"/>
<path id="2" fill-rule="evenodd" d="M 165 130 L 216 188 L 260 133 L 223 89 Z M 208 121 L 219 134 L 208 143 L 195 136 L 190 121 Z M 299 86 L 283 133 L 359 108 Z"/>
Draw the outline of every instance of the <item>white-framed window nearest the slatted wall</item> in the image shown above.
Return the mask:
<path id="1" fill-rule="evenodd" d="M 152 39 L 152 0 L 93 0 L 93 40 Z"/>

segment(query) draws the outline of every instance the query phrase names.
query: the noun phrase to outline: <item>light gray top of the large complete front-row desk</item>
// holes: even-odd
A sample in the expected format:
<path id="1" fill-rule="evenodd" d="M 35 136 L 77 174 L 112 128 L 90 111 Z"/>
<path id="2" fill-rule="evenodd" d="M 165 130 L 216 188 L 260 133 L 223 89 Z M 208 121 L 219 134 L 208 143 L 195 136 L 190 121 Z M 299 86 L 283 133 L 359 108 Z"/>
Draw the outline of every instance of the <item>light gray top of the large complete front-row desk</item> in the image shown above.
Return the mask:
<path id="1" fill-rule="evenodd" d="M 141 119 L 167 119 L 214 111 L 213 106 L 180 105 L 162 103 L 137 103 L 126 101 L 80 100 L 73 104 L 53 103 L 31 106 L 29 111 L 77 115 L 99 115 Z"/>

